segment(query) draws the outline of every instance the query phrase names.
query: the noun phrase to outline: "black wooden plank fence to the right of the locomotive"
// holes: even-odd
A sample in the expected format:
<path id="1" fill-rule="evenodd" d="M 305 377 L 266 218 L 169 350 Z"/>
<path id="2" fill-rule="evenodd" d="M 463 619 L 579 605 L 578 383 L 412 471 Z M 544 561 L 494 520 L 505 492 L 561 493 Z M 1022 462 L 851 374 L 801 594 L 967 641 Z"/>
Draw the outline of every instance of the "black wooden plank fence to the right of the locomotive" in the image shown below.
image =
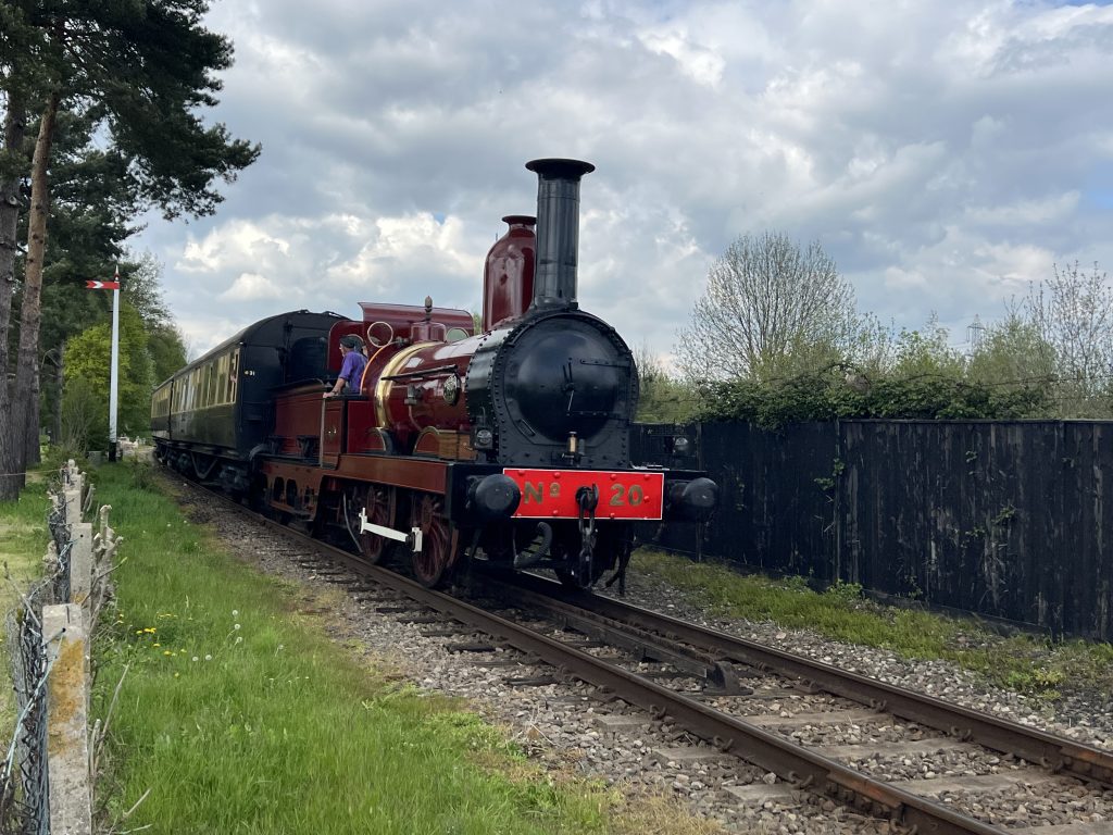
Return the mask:
<path id="1" fill-rule="evenodd" d="M 673 453 L 678 434 L 691 456 Z M 641 425 L 643 463 L 705 469 L 720 505 L 661 544 L 1054 633 L 1113 639 L 1113 422 Z M 636 458 L 636 460 L 638 460 Z"/>

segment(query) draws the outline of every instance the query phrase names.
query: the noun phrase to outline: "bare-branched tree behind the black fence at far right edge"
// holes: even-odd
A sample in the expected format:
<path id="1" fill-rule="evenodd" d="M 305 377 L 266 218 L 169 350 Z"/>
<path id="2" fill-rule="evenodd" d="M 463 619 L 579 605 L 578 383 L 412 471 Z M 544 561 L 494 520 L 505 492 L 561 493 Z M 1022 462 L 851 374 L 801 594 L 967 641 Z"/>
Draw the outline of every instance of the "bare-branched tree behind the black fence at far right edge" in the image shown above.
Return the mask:
<path id="1" fill-rule="evenodd" d="M 1043 342 L 1051 347 L 1064 418 L 1109 415 L 1113 369 L 1113 288 L 1094 264 L 1085 273 L 1078 262 L 1053 268 L 1047 282 L 1034 285 L 1025 308 Z"/>

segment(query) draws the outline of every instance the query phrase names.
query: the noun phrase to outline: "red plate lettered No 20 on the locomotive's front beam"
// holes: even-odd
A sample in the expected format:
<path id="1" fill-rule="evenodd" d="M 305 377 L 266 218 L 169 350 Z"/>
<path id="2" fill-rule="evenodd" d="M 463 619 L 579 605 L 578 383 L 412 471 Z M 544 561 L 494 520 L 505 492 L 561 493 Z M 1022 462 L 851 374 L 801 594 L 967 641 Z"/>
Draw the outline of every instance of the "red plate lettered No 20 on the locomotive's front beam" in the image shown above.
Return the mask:
<path id="1" fill-rule="evenodd" d="M 515 517 L 577 519 L 575 493 L 599 488 L 595 519 L 660 519 L 664 504 L 664 473 L 605 470 L 519 470 L 503 472 L 522 491 Z"/>

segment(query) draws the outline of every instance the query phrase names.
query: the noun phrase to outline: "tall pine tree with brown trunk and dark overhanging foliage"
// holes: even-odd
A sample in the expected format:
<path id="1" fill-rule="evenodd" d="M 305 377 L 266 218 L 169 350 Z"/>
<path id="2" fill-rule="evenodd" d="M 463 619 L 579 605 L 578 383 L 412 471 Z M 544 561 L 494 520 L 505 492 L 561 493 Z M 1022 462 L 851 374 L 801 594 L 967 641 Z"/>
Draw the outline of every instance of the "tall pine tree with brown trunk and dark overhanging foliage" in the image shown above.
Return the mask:
<path id="1" fill-rule="evenodd" d="M 208 10 L 206 0 L 3 0 L 0 8 L 0 23 L 10 26 L 0 41 L 7 150 L 16 150 L 8 143 L 8 122 L 18 122 L 24 106 L 40 114 L 30 169 L 16 384 L 11 400 L 0 400 L 2 500 L 14 498 L 23 484 L 19 473 L 26 466 L 32 429 L 33 410 L 28 404 L 36 391 L 51 212 L 48 175 L 60 114 L 80 115 L 107 130 L 127 166 L 137 200 L 161 208 L 168 218 L 211 214 L 221 200 L 215 180 L 235 179 L 255 160 L 259 147 L 233 139 L 223 125 L 206 127 L 197 116 L 217 104 L 220 81 L 214 73 L 232 63 L 228 39 L 200 23 Z M 18 144 L 22 148 L 21 139 Z M 0 216 L 0 244 L 4 220 Z M 0 271 L 3 267 L 0 262 Z M 3 292 L 0 288 L 0 314 L 6 313 Z M 10 303 L 8 314 L 0 327 L 9 326 Z M 0 336 L 6 337 L 7 330 Z M 6 375 L 7 356 L 0 360 L 4 361 L 0 374 Z M 33 429 L 37 436 L 37 425 Z"/>

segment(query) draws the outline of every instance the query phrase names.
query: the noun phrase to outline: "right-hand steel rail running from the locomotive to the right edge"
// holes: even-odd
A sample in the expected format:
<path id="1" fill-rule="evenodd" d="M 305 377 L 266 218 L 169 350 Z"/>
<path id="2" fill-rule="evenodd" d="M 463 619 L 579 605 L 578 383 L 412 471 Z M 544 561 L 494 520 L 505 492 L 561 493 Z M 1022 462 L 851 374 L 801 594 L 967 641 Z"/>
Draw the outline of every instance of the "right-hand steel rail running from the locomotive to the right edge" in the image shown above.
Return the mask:
<path id="1" fill-rule="evenodd" d="M 723 660 L 802 678 L 827 692 L 887 710 L 964 741 L 974 741 L 996 752 L 1016 755 L 1056 774 L 1066 774 L 1113 788 L 1113 753 L 613 598 L 572 592 L 558 582 L 535 574 L 521 576 L 512 582 L 574 602 L 622 623 L 660 631 L 705 651 L 717 652 Z"/>

